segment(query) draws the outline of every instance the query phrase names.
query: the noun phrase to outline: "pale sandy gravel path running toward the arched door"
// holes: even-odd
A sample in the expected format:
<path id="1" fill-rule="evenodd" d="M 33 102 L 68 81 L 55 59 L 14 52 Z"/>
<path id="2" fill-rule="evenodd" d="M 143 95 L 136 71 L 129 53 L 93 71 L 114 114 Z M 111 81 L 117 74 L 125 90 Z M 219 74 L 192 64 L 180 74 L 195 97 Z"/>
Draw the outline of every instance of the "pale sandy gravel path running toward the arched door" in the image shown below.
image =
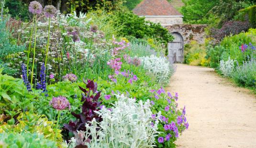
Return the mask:
<path id="1" fill-rule="evenodd" d="M 176 66 L 167 90 L 178 92 L 189 121 L 178 148 L 256 148 L 256 97 L 213 69 Z"/>

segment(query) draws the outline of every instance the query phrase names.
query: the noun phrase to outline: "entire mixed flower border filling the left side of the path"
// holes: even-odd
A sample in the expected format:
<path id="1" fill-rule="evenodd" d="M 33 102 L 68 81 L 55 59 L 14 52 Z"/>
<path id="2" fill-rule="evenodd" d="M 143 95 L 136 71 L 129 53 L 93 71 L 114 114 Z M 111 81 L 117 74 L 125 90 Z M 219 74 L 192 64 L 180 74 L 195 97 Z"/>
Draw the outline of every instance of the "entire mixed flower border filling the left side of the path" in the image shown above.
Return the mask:
<path id="1" fill-rule="evenodd" d="M 29 22 L 1 19 L 0 147 L 175 147 L 189 123 L 163 89 L 175 68 L 159 34 L 130 42 L 84 13 L 28 7 Z"/>

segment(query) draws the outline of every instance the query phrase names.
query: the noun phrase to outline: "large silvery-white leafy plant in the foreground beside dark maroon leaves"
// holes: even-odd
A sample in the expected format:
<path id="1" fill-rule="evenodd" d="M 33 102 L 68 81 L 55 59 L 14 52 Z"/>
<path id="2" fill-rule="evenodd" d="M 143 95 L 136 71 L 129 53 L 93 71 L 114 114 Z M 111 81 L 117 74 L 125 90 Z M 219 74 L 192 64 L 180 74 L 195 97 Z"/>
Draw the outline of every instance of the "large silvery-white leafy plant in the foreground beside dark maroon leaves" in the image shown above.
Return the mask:
<path id="1" fill-rule="evenodd" d="M 84 144 L 88 148 L 153 148 L 161 113 L 153 119 L 149 100 L 136 103 L 135 99 L 124 95 L 116 97 L 118 101 L 114 107 L 96 111 L 103 119 L 100 123 L 93 119 L 89 122 L 91 126 L 86 125 L 87 131 L 78 131 L 78 135 L 84 135 L 83 139 L 92 138 Z M 69 148 L 75 146 L 74 143 L 78 144 L 78 140 L 72 138 Z"/>

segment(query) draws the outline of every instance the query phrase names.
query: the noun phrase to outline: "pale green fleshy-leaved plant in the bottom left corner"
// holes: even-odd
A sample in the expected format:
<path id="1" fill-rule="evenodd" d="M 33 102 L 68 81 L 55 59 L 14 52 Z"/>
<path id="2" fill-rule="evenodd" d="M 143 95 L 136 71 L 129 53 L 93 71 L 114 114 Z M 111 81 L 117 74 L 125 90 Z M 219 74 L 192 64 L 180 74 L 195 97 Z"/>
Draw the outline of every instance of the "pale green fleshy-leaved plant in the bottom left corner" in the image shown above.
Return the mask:
<path id="1" fill-rule="evenodd" d="M 0 133 L 0 148 L 57 148 L 54 141 L 38 133 Z"/>

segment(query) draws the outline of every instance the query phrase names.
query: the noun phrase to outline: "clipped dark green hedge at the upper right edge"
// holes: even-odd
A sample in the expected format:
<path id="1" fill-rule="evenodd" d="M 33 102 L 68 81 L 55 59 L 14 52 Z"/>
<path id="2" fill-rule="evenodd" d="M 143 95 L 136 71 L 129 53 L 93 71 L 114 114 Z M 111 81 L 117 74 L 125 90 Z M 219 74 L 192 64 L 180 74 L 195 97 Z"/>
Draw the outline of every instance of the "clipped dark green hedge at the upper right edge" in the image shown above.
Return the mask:
<path id="1" fill-rule="evenodd" d="M 239 20 L 244 20 L 247 15 L 253 28 L 256 28 L 256 5 L 239 10 Z"/>

